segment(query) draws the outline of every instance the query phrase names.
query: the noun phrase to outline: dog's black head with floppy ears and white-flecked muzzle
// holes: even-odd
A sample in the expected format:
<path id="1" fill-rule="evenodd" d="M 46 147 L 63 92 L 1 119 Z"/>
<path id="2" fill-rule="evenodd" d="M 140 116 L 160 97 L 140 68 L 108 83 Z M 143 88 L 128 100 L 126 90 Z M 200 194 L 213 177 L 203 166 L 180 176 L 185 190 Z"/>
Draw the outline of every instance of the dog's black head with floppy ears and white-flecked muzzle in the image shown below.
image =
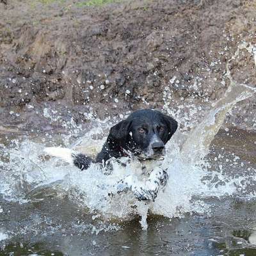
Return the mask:
<path id="1" fill-rule="evenodd" d="M 134 156 L 157 159 L 164 156 L 164 145 L 177 130 L 177 126 L 177 122 L 170 116 L 156 110 L 142 109 L 113 126 L 109 139 Z"/>

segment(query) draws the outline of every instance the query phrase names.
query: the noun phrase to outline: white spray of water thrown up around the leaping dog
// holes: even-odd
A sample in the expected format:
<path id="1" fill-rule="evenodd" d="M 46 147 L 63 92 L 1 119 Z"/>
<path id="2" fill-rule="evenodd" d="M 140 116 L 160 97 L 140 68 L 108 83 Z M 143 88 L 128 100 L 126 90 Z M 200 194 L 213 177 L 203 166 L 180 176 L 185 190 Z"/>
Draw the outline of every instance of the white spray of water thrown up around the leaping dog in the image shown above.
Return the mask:
<path id="1" fill-rule="evenodd" d="M 60 198 L 65 196 L 83 207 L 84 211 L 93 213 L 95 219 L 130 220 L 140 215 L 141 226 L 145 229 L 150 212 L 172 218 L 183 216 L 185 212 L 210 211 L 209 205 L 203 199 L 207 196 L 233 195 L 237 191 L 237 184 L 241 184 L 243 178 L 228 180 L 218 173 L 219 179 L 225 180 L 225 186 L 221 188 L 214 186 L 211 180 L 202 182 L 205 177 L 203 159 L 209 153 L 209 145 L 223 124 L 227 112 L 237 102 L 252 97 L 256 92 L 251 86 L 235 83 L 228 65 L 226 76 L 230 80 L 230 86 L 223 98 L 212 106 L 209 115 L 188 134 L 177 132 L 168 142 L 163 166 L 170 179 L 155 202 L 139 202 L 129 192 L 109 196 L 118 180 L 131 172 L 140 172 L 140 162 L 133 161 L 124 167 L 113 160 L 111 175 L 102 173 L 97 164 L 90 166 L 86 172 L 81 172 L 58 159 L 44 159 L 40 156 L 45 147 L 44 143 L 33 143 L 29 140 L 22 143 L 13 141 L 13 147 L 8 150 L 8 160 L 4 158 L 1 161 L 1 194 L 6 200 L 20 203 L 45 200 L 49 195 Z M 99 152 L 106 138 L 93 140 L 92 134 L 102 134 L 101 127 L 102 122 L 94 122 L 93 129 L 70 147 L 87 150 L 87 154 Z M 6 154 L 7 148 L 2 148 L 2 151 Z M 127 159 L 122 161 L 126 163 Z M 243 183 L 243 186 L 246 184 Z"/>

